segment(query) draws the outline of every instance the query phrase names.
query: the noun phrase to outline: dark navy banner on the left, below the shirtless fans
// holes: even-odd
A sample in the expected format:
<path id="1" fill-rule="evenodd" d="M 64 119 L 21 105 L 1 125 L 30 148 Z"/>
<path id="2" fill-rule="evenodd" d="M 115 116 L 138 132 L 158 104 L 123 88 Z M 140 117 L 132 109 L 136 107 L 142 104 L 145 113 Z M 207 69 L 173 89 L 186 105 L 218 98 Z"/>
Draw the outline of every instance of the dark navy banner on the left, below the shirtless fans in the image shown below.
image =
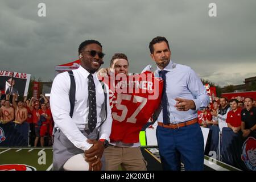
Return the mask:
<path id="1" fill-rule="evenodd" d="M 27 122 L 21 125 L 14 122 L 0 123 L 0 147 L 27 147 L 29 131 Z"/>

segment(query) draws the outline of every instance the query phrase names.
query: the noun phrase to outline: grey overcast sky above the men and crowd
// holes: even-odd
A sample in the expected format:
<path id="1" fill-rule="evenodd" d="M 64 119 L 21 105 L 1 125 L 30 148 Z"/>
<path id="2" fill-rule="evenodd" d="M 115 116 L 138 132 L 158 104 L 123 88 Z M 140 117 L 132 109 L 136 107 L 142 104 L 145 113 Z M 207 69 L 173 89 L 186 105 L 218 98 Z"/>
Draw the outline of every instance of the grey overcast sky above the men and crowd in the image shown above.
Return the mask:
<path id="1" fill-rule="evenodd" d="M 126 53 L 130 72 L 150 59 L 148 44 L 165 36 L 171 59 L 189 65 L 220 86 L 256 76 L 256 1 L 0 1 L 0 70 L 30 73 L 49 81 L 55 65 L 78 59 L 79 44 L 101 42 L 108 67 L 115 52 Z M 46 3 L 46 17 L 38 4 Z M 217 17 L 208 15 L 209 3 Z"/>

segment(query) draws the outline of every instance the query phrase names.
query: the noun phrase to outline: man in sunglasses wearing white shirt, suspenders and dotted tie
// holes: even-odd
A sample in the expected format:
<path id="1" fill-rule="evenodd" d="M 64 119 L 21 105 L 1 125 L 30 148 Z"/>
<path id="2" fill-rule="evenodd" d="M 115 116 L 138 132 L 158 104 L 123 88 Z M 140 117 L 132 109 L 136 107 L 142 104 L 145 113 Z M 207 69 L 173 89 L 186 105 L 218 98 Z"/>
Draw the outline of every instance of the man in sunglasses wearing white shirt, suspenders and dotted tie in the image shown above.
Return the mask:
<path id="1" fill-rule="evenodd" d="M 89 170 L 104 169 L 102 155 L 108 146 L 112 116 L 109 89 L 105 85 L 105 97 L 104 86 L 96 76 L 103 57 L 101 44 L 97 40 L 86 40 L 79 46 L 81 66 L 73 70 L 73 75 L 60 73 L 53 81 L 50 97 L 56 129 L 53 170 L 63 170 L 69 158 L 82 153 L 89 163 Z M 69 93 L 72 78 L 75 78 L 76 85 L 73 113 L 69 101 L 69 94 L 73 93 Z"/>

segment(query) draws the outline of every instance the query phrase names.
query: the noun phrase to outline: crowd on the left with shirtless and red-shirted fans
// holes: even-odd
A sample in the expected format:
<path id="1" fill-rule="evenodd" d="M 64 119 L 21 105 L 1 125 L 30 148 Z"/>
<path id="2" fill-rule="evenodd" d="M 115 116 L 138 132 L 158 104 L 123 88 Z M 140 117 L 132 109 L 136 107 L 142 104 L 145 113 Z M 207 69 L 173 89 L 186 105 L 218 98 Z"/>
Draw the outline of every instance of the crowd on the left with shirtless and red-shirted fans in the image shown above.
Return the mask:
<path id="1" fill-rule="evenodd" d="M 0 122 L 2 125 L 29 123 L 29 145 L 51 146 L 53 119 L 49 98 L 20 97 L 17 94 L 0 95 Z M 40 138 L 40 140 L 39 140 Z M 40 141 L 40 142 L 39 142 Z"/>

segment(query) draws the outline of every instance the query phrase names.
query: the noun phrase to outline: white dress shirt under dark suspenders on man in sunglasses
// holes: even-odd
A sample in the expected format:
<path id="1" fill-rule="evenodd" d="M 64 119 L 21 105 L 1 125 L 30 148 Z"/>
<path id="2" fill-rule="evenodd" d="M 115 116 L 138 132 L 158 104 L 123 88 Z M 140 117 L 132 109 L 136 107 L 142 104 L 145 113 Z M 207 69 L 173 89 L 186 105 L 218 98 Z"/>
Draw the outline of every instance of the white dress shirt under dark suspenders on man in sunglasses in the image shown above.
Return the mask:
<path id="1" fill-rule="evenodd" d="M 76 82 L 76 98 L 73 117 L 69 116 L 70 102 L 69 102 L 69 89 L 71 80 L 68 72 L 60 73 L 55 77 L 51 89 L 51 111 L 52 117 L 55 122 L 55 127 L 59 127 L 65 136 L 81 150 L 88 150 L 92 144 L 86 142 L 87 138 L 81 133 L 80 130 L 85 129 L 88 124 L 88 75 L 90 73 L 81 66 L 73 70 L 73 75 Z M 101 108 L 104 103 L 104 90 L 97 78 L 96 73 L 92 74 L 96 89 L 96 102 L 97 102 L 97 125 L 101 123 Z M 100 126 L 100 139 L 109 140 L 112 128 L 112 115 L 109 106 L 109 88 L 105 84 L 107 90 L 107 109 L 108 115 L 106 121 Z"/>

